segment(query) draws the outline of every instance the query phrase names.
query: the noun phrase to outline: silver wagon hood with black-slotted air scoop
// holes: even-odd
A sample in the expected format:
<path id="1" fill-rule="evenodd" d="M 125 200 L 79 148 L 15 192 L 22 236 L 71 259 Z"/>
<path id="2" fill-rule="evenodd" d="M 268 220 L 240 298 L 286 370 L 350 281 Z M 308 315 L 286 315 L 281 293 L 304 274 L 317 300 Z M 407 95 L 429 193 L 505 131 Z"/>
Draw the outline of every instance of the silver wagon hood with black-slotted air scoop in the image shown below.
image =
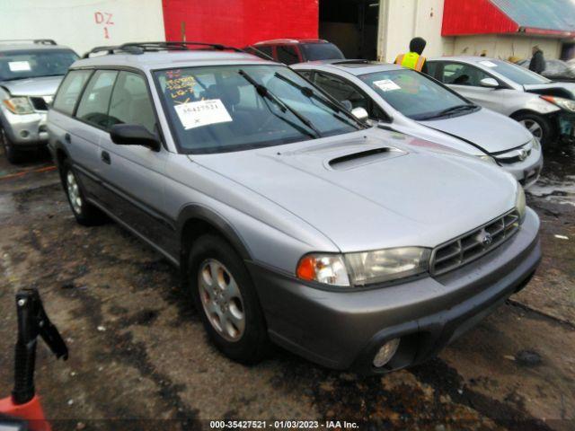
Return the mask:
<path id="1" fill-rule="evenodd" d="M 435 247 L 511 209 L 517 191 L 488 163 L 377 128 L 190 159 L 300 217 L 341 251 Z"/>

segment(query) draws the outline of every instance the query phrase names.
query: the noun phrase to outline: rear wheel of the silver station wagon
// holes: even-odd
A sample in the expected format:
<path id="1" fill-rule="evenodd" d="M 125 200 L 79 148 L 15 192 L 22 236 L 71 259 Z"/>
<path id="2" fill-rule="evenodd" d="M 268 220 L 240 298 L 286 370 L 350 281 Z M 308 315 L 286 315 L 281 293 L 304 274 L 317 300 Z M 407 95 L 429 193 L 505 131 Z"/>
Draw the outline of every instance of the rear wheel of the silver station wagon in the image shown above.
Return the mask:
<path id="1" fill-rule="evenodd" d="M 72 164 L 65 160 L 60 168 L 62 187 L 76 222 L 84 226 L 94 226 L 106 221 L 106 216 L 84 198 L 84 190 L 78 181 Z"/>

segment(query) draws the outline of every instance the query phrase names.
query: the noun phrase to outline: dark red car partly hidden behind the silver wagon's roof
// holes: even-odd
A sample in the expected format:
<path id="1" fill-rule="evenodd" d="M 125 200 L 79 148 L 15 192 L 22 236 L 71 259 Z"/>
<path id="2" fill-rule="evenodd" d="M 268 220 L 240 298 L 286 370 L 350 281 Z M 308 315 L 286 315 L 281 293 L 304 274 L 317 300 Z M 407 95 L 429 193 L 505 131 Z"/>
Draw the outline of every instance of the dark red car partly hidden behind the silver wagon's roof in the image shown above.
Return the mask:
<path id="1" fill-rule="evenodd" d="M 252 47 L 247 47 L 245 50 L 260 57 L 261 53 L 258 51 L 261 51 L 266 56 L 286 65 L 304 61 L 345 58 L 340 48 L 322 39 L 265 40 L 254 43 Z"/>

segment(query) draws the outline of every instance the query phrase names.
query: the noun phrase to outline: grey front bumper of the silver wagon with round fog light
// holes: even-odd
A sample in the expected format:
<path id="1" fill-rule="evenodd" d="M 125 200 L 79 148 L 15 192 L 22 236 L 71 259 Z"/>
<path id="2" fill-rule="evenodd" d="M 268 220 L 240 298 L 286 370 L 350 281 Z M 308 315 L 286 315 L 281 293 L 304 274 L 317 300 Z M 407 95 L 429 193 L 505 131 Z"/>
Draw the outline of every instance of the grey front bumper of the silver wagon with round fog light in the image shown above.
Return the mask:
<path id="1" fill-rule="evenodd" d="M 525 286 L 541 260 L 538 230 L 527 208 L 516 234 L 464 267 L 357 292 L 320 290 L 248 265 L 270 339 L 330 368 L 385 373 L 435 356 Z"/>

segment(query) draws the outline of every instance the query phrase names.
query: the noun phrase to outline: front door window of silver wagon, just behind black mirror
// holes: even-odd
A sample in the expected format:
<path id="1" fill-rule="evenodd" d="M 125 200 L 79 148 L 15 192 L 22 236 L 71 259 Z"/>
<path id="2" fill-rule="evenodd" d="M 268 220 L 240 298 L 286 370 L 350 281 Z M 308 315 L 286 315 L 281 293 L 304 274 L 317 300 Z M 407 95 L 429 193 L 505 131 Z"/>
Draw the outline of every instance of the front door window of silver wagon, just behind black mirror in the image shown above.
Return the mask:
<path id="1" fill-rule="evenodd" d="M 144 77 L 120 72 L 110 102 L 110 127 L 114 124 L 144 126 L 155 133 L 155 115 Z"/>

